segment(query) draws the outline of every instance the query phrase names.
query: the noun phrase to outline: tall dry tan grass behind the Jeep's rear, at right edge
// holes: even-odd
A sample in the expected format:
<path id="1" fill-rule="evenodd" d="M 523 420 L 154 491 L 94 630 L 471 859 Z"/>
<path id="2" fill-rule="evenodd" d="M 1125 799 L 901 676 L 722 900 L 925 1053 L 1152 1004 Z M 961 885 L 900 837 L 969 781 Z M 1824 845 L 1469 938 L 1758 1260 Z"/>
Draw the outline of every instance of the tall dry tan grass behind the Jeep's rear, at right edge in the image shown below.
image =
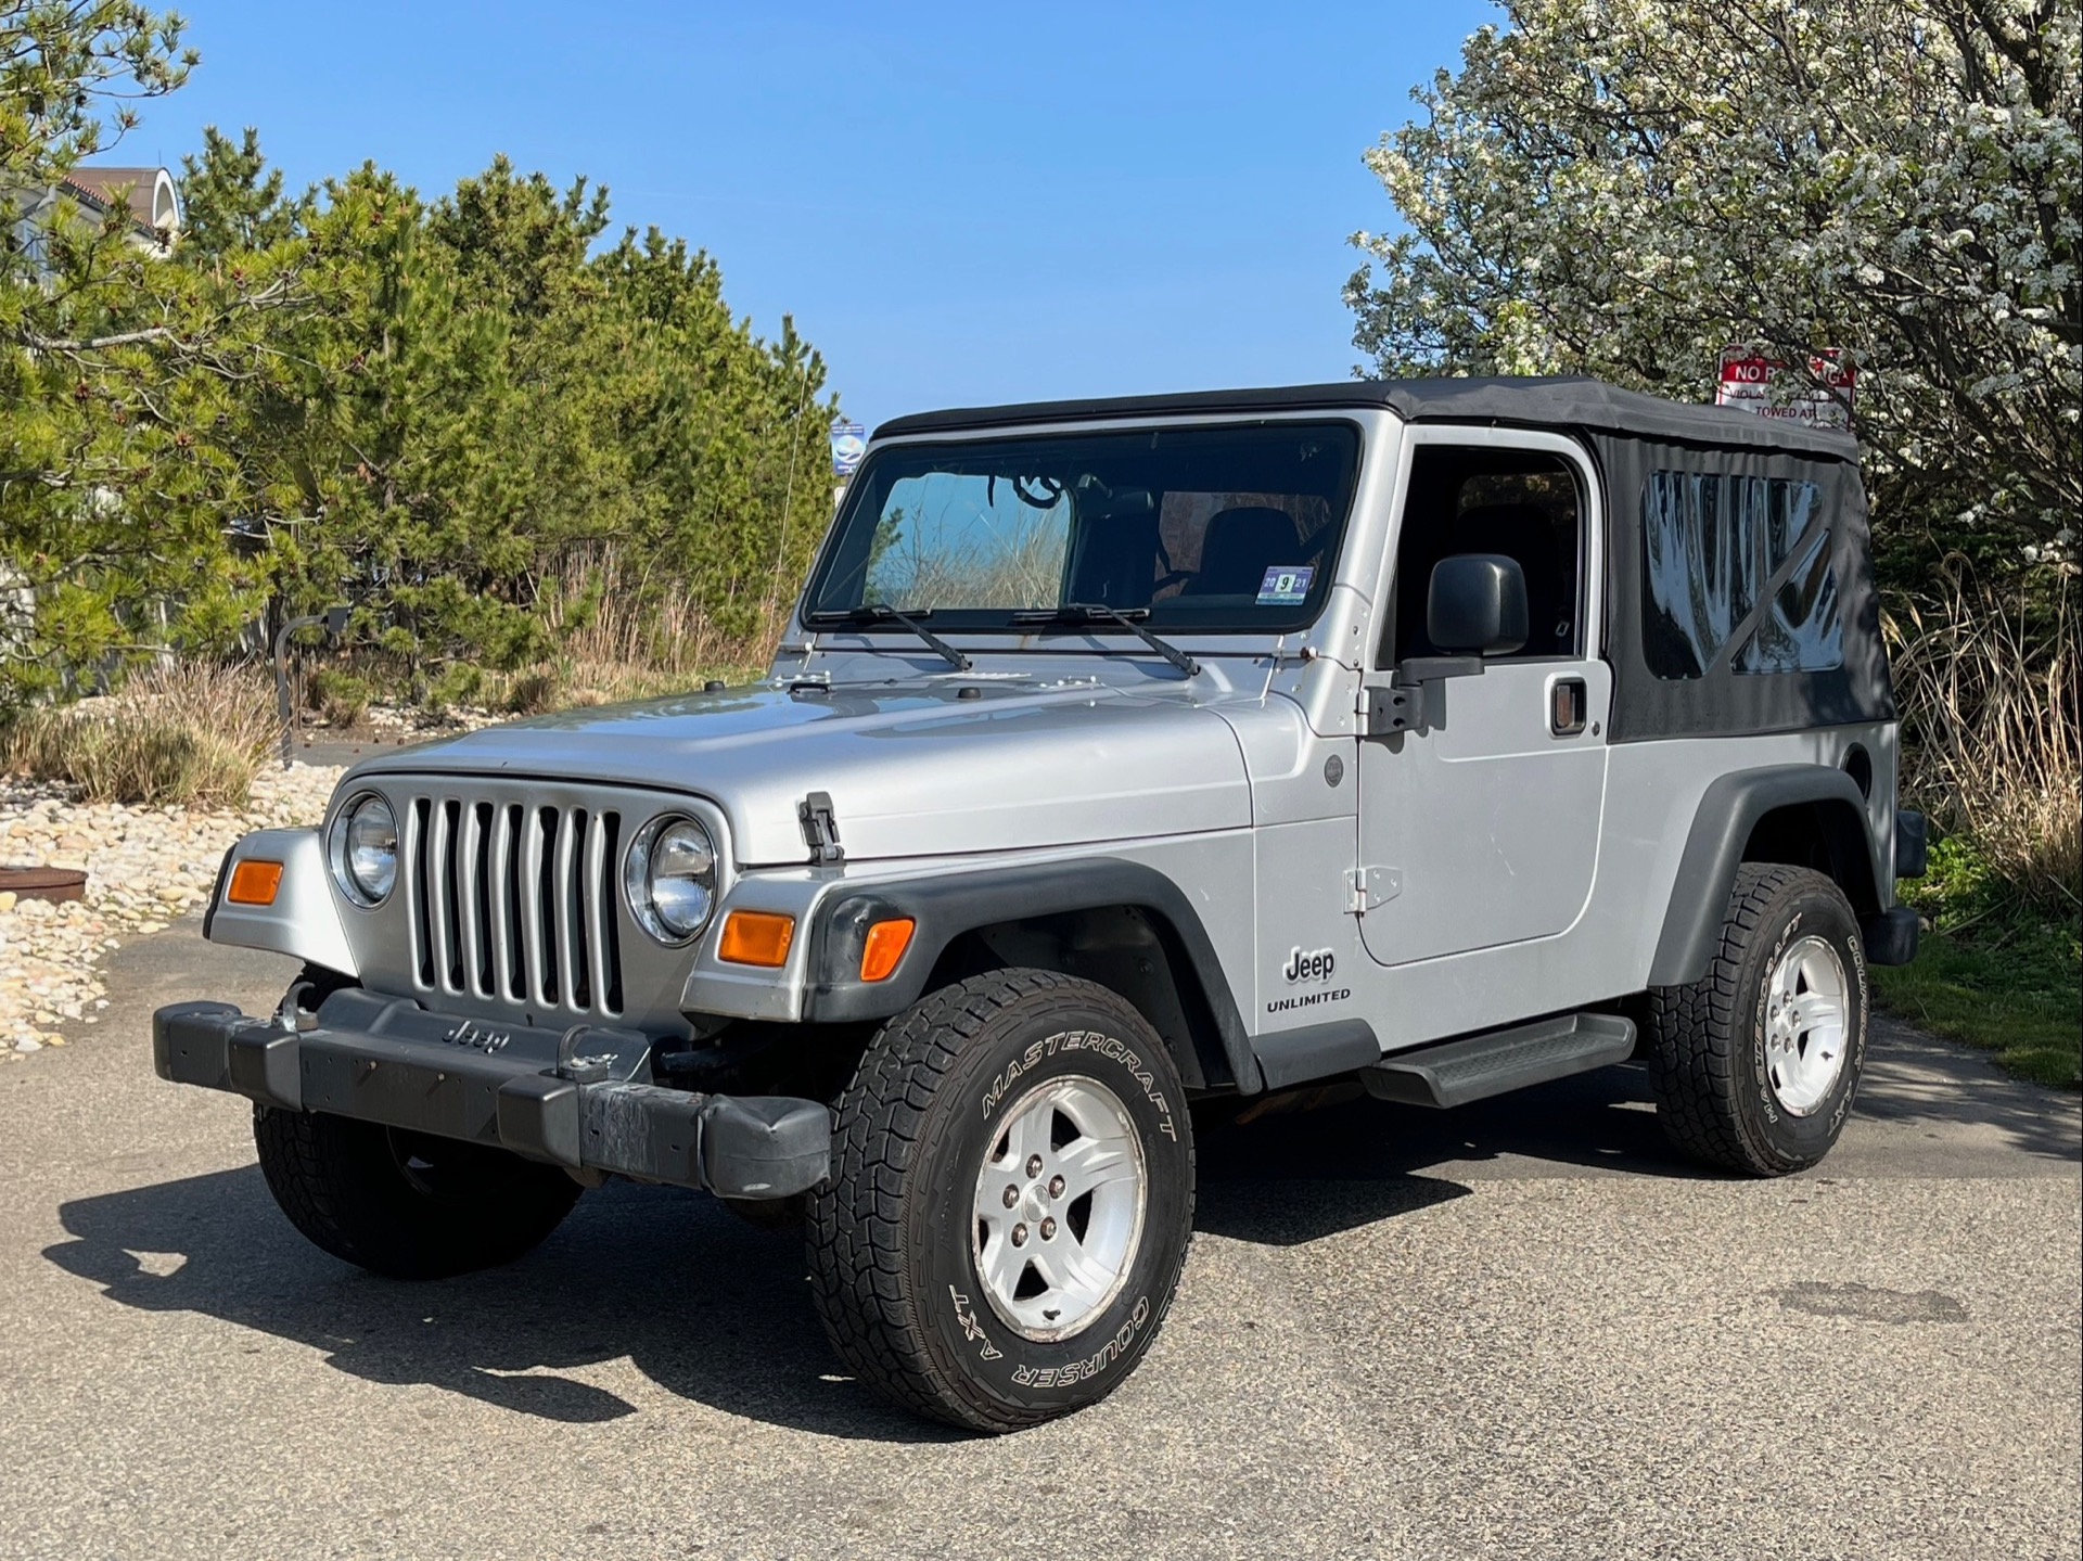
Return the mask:
<path id="1" fill-rule="evenodd" d="M 1971 836 L 2041 909 L 2083 905 L 2083 713 L 2071 579 L 2035 606 L 1948 561 L 1939 594 L 1883 631 L 1904 725 L 1904 792 Z"/>

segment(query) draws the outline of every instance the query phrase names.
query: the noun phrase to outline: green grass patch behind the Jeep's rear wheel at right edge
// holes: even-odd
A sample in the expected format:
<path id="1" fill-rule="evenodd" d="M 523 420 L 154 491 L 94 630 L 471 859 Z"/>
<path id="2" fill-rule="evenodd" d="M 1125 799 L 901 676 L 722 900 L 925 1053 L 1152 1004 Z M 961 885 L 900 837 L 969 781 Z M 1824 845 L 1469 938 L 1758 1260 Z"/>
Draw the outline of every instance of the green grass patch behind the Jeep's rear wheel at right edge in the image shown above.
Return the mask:
<path id="1" fill-rule="evenodd" d="M 1964 836 L 1931 848 L 1931 873 L 1900 886 L 1931 921 L 1916 963 L 1875 969 L 1881 1005 L 1921 1030 L 1996 1055 L 2008 1071 L 2083 1082 L 2083 938 L 2000 877 Z"/>

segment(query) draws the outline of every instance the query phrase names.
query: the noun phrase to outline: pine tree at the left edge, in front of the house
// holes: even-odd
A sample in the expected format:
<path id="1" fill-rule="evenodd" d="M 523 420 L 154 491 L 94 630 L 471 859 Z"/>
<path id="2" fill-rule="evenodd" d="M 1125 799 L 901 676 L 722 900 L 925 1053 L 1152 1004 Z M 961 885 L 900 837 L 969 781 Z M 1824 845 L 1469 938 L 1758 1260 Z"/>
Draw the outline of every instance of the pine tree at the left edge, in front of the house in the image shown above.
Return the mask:
<path id="1" fill-rule="evenodd" d="M 244 613 L 215 433 L 275 281 L 198 288 L 62 192 L 194 63 L 144 6 L 0 4 L 0 704 Z"/>

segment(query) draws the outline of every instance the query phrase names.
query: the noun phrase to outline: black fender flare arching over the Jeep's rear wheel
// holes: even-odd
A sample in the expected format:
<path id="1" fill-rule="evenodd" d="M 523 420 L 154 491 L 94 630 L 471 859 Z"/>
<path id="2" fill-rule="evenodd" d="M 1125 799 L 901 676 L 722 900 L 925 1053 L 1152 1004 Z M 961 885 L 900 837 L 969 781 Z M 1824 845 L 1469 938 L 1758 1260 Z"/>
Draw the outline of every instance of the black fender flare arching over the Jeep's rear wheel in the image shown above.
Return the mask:
<path id="1" fill-rule="evenodd" d="M 1743 863 L 1758 819 L 1775 809 L 1821 802 L 1827 815 L 1843 817 L 1837 804 L 1858 819 L 1864 867 L 1871 884 L 1883 882 L 1883 863 L 1875 852 L 1873 829 L 1866 823 L 1866 798 L 1858 782 L 1829 765 L 1768 765 L 1739 769 L 1714 779 L 1693 813 L 1679 875 L 1671 886 L 1664 927 L 1650 961 L 1650 986 L 1685 986 L 1706 975 L 1714 959 L 1714 940 L 1735 888 L 1735 869 Z M 1856 859 L 1854 859 L 1856 861 Z M 1839 867 L 1848 867 L 1839 857 Z M 1858 894 L 1854 898 L 1854 909 Z"/>

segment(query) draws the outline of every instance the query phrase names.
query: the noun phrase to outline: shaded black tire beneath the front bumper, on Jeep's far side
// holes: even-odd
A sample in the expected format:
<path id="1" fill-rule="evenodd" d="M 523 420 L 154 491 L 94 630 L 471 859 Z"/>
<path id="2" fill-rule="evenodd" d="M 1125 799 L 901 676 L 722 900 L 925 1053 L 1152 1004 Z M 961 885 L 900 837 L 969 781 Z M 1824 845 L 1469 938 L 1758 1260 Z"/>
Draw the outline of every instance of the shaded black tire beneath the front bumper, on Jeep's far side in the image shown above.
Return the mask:
<path id="1" fill-rule="evenodd" d="M 317 1111 L 254 1107 L 254 1146 L 292 1225 L 392 1280 L 510 1263 L 556 1230 L 583 1190 L 504 1148 Z"/>

